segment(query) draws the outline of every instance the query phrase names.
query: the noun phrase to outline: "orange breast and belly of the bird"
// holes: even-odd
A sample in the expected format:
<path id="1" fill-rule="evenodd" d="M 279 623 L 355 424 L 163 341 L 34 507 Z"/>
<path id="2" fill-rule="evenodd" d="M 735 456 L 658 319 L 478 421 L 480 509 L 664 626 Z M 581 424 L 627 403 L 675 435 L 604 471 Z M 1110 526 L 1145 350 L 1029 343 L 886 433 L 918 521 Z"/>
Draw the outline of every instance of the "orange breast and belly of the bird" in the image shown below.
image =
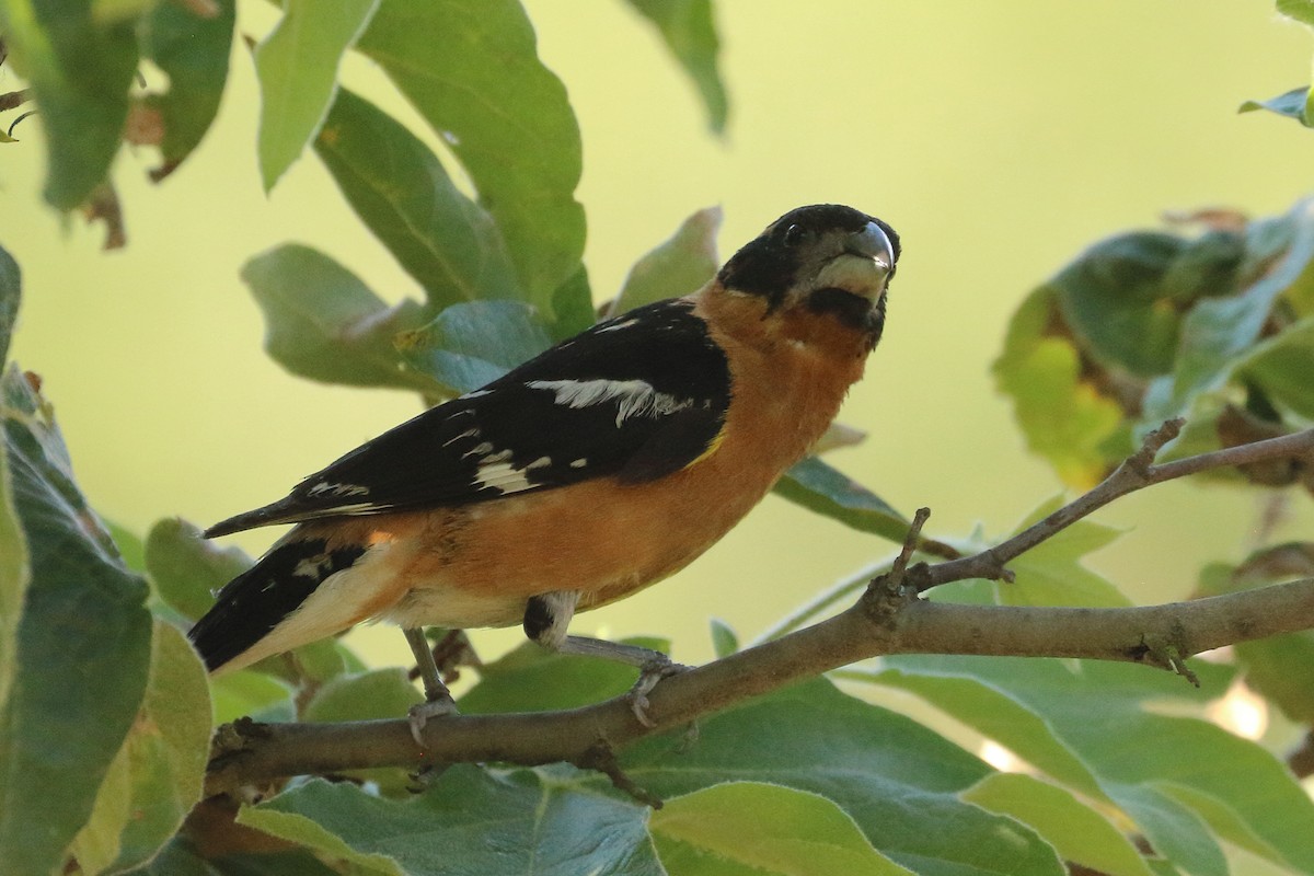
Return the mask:
<path id="1" fill-rule="evenodd" d="M 453 625 L 477 611 L 440 617 L 444 605 L 485 600 L 478 625 L 511 625 L 527 598 L 555 590 L 578 590 L 579 608 L 593 608 L 661 580 L 712 546 L 820 437 L 866 359 L 858 345 L 834 356 L 833 344 L 823 355 L 796 338 L 763 336 L 759 323 L 740 322 L 753 326 L 748 336 L 720 332 L 735 381 L 723 437 L 674 475 L 646 483 L 604 478 L 396 515 L 393 529 L 423 529 L 426 548 L 401 570 L 402 592 L 393 591 L 399 604 L 389 615 Z"/>

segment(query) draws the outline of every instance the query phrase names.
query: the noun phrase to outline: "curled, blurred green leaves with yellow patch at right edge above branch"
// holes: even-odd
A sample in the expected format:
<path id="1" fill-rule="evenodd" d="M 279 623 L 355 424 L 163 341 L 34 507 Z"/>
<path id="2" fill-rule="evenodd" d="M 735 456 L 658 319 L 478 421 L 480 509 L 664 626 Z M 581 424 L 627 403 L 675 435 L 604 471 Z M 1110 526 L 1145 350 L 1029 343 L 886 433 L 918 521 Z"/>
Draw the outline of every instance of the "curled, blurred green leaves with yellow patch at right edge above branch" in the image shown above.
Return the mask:
<path id="1" fill-rule="evenodd" d="M 1031 449 L 1074 486 L 1101 479 L 1169 418 L 1189 423 L 1169 456 L 1285 435 L 1314 418 L 1314 202 L 1272 218 L 1209 211 L 1184 222 L 1205 230 L 1096 243 L 1009 326 L 999 386 Z M 1242 475 L 1314 489 L 1314 473 L 1296 462 Z"/>

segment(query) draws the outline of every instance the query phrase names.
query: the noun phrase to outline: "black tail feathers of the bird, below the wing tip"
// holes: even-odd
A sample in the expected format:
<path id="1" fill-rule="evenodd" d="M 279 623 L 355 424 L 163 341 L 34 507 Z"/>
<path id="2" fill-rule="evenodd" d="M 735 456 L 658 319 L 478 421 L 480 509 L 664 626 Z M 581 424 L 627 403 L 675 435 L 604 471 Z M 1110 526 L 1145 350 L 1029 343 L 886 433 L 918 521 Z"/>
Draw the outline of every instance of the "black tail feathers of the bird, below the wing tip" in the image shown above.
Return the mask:
<path id="1" fill-rule="evenodd" d="M 325 538 L 289 538 L 219 591 L 188 638 L 212 672 L 269 634 L 328 575 L 351 567 L 363 545 L 328 550 Z"/>

